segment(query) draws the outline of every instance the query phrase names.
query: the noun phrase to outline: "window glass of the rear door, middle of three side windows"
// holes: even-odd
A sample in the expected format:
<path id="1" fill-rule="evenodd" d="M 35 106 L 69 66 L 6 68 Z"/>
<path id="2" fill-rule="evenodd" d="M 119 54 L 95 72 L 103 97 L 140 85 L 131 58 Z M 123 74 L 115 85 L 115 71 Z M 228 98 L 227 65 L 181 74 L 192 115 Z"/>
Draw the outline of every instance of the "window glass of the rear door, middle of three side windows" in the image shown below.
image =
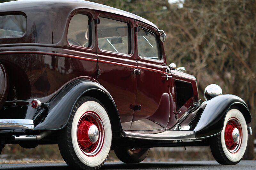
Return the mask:
<path id="1" fill-rule="evenodd" d="M 100 24 L 97 24 L 99 48 L 117 53 L 130 53 L 128 30 L 129 25 L 127 23 L 100 18 Z"/>

